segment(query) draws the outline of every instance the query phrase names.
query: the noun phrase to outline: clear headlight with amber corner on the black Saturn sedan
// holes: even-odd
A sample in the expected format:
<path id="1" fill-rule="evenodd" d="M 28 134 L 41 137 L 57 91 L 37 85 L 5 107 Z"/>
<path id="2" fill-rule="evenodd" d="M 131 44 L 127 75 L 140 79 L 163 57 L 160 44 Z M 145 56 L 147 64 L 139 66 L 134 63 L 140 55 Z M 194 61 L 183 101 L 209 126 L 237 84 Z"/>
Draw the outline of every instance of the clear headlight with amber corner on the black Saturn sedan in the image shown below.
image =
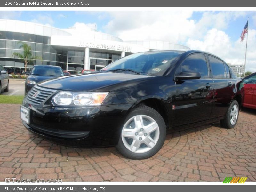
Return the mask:
<path id="1" fill-rule="evenodd" d="M 101 105 L 108 95 L 108 92 L 90 92 L 90 93 L 76 93 L 61 91 L 53 97 L 53 101 L 57 105 L 67 106 L 97 106 Z"/>

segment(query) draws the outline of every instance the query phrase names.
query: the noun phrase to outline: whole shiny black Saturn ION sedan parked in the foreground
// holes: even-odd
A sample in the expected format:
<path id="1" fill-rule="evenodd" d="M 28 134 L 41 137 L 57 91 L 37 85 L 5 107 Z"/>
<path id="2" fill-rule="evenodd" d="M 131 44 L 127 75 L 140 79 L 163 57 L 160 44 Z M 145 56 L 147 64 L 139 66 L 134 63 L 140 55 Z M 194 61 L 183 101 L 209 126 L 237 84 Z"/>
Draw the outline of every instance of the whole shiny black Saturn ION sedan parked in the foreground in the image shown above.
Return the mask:
<path id="1" fill-rule="evenodd" d="M 92 74 L 35 85 L 21 119 L 31 132 L 76 147 L 116 146 L 144 159 L 166 132 L 220 120 L 234 128 L 243 84 L 220 58 L 201 51 L 149 51 L 116 60 Z"/>

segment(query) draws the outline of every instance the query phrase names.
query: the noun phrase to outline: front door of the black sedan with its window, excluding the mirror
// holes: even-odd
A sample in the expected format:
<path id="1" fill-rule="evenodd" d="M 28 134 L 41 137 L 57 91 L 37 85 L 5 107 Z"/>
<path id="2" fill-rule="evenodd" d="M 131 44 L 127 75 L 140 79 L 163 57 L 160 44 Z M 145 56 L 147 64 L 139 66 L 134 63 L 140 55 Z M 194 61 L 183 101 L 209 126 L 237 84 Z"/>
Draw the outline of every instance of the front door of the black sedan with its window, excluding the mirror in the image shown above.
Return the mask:
<path id="1" fill-rule="evenodd" d="M 200 79 L 176 81 L 173 126 L 191 124 L 209 119 L 212 111 L 213 80 L 204 54 L 189 55 L 175 74 L 195 71 Z"/>

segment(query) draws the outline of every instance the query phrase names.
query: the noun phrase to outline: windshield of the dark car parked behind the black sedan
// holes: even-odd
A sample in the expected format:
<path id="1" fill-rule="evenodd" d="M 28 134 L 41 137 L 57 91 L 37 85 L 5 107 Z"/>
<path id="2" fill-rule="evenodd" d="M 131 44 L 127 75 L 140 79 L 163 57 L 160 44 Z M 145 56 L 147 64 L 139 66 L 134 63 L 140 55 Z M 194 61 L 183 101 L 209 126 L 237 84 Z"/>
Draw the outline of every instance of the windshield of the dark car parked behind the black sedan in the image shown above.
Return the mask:
<path id="1" fill-rule="evenodd" d="M 44 67 L 36 66 L 32 69 L 30 75 L 42 75 L 42 76 L 64 76 L 61 68 L 58 67 Z"/>

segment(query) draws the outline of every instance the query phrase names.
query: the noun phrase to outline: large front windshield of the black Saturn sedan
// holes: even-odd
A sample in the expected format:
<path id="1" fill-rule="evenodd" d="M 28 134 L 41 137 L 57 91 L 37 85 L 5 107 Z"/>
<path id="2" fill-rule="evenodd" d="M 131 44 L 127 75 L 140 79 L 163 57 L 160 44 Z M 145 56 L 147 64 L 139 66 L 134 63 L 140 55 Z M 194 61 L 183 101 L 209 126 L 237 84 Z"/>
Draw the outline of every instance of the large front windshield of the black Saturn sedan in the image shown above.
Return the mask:
<path id="1" fill-rule="evenodd" d="M 172 61 L 183 51 L 151 51 L 134 53 L 110 63 L 102 70 L 162 76 Z M 123 69 L 123 70 L 122 70 Z"/>

